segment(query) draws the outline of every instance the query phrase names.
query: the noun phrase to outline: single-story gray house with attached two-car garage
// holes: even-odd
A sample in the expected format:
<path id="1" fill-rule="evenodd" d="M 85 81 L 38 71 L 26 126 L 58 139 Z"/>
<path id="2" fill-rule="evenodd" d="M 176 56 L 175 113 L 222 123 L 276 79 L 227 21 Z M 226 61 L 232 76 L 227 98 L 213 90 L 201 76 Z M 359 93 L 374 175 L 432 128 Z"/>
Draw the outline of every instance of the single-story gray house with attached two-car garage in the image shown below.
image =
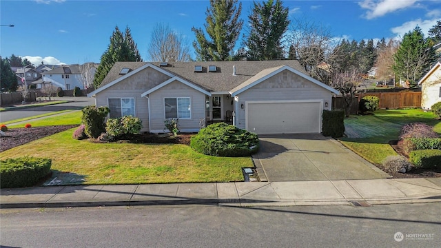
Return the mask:
<path id="1" fill-rule="evenodd" d="M 165 119 L 179 118 L 181 132 L 198 132 L 201 121 L 229 121 L 281 134 L 320 133 L 322 110 L 331 110 L 334 94 L 298 61 L 287 60 L 116 62 L 88 96 L 110 107 L 110 118 L 141 118 L 143 132 L 166 132 Z"/>

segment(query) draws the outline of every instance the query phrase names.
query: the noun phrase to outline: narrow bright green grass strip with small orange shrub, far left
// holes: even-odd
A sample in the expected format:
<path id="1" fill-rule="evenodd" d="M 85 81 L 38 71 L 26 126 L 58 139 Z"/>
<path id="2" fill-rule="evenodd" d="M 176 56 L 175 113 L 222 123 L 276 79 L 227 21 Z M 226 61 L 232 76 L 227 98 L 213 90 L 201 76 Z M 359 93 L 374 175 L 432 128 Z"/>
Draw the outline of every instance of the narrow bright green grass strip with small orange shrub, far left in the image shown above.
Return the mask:
<path id="1" fill-rule="evenodd" d="M 30 120 L 26 123 L 30 123 L 32 127 L 43 127 L 48 125 L 80 125 L 81 124 L 81 110 L 70 111 L 65 114 L 57 116 L 48 116 L 38 120 Z M 12 124 L 8 125 L 8 128 L 24 127 L 24 124 Z"/>

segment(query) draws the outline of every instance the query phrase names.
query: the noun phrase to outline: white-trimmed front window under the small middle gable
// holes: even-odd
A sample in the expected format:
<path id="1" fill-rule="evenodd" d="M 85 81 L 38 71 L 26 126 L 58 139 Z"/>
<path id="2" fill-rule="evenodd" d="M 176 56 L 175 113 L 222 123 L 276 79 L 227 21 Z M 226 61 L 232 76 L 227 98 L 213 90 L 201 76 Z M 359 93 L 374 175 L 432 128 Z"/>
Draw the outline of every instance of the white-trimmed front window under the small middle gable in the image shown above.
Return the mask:
<path id="1" fill-rule="evenodd" d="M 192 118 L 192 105 L 189 97 L 164 99 L 165 118 Z"/>

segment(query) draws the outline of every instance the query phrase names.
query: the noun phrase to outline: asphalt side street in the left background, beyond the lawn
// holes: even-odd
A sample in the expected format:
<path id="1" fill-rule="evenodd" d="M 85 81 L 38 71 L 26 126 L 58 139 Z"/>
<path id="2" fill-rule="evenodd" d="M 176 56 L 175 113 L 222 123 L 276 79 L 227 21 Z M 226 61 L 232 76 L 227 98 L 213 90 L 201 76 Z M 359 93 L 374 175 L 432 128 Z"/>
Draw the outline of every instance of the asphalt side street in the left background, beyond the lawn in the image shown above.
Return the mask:
<path id="1" fill-rule="evenodd" d="M 81 110 L 88 105 L 94 105 L 95 99 L 91 97 L 59 97 L 54 98 L 60 101 L 70 101 L 69 103 L 61 103 L 57 105 L 48 105 L 41 107 L 30 107 L 17 109 L 12 111 L 6 111 L 0 113 L 0 122 L 17 120 L 19 118 L 27 118 L 31 116 L 37 116 L 40 114 L 48 114 L 50 112 L 56 112 L 61 110 Z"/>

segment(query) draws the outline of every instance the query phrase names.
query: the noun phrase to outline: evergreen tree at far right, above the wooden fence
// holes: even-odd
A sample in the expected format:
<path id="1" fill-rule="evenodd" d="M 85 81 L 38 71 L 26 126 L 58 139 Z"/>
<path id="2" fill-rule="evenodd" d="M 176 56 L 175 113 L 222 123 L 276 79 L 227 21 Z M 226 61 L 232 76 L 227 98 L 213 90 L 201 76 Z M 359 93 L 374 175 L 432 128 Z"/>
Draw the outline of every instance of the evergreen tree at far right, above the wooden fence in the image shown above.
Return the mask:
<path id="1" fill-rule="evenodd" d="M 416 26 L 404 34 L 400 48 L 394 55 L 393 71 L 400 79 L 407 80 L 411 85 L 424 75 L 431 63 L 436 60 L 431 40 L 424 39 L 421 28 Z"/>

